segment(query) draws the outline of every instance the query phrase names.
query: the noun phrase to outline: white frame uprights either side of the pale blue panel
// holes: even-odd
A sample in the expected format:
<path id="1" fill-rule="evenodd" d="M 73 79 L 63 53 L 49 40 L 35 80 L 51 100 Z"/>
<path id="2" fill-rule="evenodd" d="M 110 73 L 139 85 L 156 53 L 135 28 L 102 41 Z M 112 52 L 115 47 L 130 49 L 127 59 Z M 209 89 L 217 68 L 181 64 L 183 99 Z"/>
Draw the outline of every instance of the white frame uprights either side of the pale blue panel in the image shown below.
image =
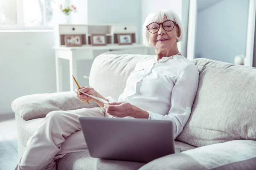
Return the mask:
<path id="1" fill-rule="evenodd" d="M 256 0 L 249 0 L 248 23 L 247 23 L 247 42 L 245 51 L 244 65 L 253 66 L 253 48 L 254 32 L 256 18 Z M 188 24 L 188 42 L 187 59 L 195 59 L 195 37 L 197 22 L 197 0 L 189 0 L 189 24 Z M 234 56 L 235 57 L 235 56 Z"/>

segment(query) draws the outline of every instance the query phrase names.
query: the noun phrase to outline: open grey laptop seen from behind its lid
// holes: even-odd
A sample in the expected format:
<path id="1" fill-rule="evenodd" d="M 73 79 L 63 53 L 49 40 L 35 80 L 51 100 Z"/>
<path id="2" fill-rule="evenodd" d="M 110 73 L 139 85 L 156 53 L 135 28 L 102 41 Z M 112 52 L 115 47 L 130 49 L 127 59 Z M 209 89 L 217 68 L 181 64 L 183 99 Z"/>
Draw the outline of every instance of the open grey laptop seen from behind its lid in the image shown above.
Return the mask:
<path id="1" fill-rule="evenodd" d="M 175 153 L 172 121 L 81 116 L 79 122 L 93 158 L 149 162 Z"/>

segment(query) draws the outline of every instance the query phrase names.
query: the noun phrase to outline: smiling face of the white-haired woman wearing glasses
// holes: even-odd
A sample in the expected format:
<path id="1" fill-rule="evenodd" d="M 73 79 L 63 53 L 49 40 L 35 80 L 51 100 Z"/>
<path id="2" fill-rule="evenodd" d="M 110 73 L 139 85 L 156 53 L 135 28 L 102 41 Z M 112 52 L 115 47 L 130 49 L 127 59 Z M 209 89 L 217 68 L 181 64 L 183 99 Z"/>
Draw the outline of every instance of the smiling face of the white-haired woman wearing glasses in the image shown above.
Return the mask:
<path id="1" fill-rule="evenodd" d="M 166 20 L 162 20 L 161 23 L 164 23 Z M 166 24 L 167 23 L 167 24 Z M 166 22 L 164 24 L 161 24 L 159 27 L 159 30 L 156 33 L 151 33 L 154 31 L 149 32 L 148 38 L 151 44 L 154 46 L 156 54 L 163 53 L 163 51 L 166 51 L 164 53 L 168 54 L 170 50 L 174 50 L 177 48 L 177 25 L 174 24 L 174 28 L 172 31 L 166 31 L 168 30 L 168 27 L 171 26 L 171 22 Z M 173 24 L 173 23 L 171 23 Z M 166 30 L 163 29 L 163 25 Z M 150 28 L 149 28 L 150 29 Z M 151 28 L 156 29 L 156 28 Z"/>

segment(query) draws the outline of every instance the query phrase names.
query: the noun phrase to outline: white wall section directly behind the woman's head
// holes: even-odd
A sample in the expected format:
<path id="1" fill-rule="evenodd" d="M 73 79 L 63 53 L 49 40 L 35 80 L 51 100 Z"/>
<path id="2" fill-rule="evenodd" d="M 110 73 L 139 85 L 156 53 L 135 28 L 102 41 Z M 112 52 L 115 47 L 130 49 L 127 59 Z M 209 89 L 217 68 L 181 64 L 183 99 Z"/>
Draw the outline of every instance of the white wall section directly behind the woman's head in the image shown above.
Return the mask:
<path id="1" fill-rule="evenodd" d="M 148 14 L 161 9 L 174 11 L 182 20 L 182 0 L 141 0 L 141 23 L 144 23 Z M 143 42 L 142 37 L 141 42 Z M 181 49 L 181 42 L 178 42 L 178 49 L 183 51 Z M 153 48 L 149 49 L 148 53 L 155 55 Z"/>

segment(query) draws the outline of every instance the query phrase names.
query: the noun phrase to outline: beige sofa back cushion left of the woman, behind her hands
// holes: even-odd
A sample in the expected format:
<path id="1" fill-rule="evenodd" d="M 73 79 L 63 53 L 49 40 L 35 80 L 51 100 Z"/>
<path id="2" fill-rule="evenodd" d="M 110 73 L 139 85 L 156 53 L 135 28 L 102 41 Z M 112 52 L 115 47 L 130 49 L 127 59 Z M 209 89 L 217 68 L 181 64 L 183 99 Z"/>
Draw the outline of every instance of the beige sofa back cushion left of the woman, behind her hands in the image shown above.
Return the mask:
<path id="1" fill-rule="evenodd" d="M 117 101 L 137 62 L 147 57 L 153 56 L 139 54 L 102 54 L 97 56 L 90 71 L 90 87 L 93 87 L 102 96 L 111 96 Z"/>

